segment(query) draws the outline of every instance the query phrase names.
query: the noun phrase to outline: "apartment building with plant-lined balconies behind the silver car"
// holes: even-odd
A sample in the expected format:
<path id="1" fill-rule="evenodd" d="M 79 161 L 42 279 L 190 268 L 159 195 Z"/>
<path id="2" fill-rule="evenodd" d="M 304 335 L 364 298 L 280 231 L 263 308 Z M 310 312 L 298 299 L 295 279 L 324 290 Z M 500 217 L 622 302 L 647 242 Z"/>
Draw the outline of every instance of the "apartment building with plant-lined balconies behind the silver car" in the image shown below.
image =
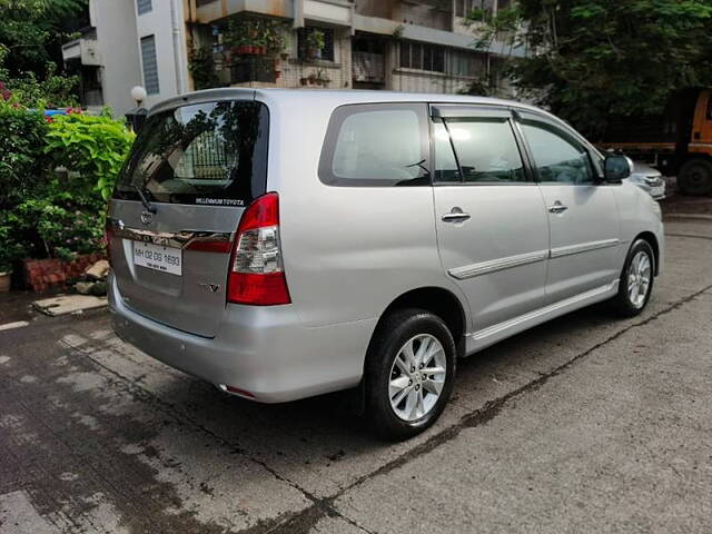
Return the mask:
<path id="1" fill-rule="evenodd" d="M 90 0 L 91 28 L 63 47 L 82 103 L 117 115 L 207 87 L 389 89 L 458 92 L 501 75 L 508 56 L 475 50 L 473 9 L 510 0 Z"/>

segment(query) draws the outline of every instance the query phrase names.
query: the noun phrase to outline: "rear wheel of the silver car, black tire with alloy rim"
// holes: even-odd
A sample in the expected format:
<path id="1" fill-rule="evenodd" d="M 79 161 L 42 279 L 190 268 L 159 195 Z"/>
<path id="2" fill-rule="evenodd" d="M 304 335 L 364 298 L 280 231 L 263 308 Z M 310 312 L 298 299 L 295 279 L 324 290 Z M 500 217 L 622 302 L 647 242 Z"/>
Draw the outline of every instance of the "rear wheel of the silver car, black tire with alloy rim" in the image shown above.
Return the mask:
<path id="1" fill-rule="evenodd" d="M 421 348 L 425 362 L 418 357 Z M 402 441 L 433 425 L 453 390 L 455 360 L 453 335 L 438 316 L 416 308 L 389 313 L 366 356 L 366 417 L 373 429 L 385 439 Z M 423 373 L 428 369 L 438 373 Z"/>

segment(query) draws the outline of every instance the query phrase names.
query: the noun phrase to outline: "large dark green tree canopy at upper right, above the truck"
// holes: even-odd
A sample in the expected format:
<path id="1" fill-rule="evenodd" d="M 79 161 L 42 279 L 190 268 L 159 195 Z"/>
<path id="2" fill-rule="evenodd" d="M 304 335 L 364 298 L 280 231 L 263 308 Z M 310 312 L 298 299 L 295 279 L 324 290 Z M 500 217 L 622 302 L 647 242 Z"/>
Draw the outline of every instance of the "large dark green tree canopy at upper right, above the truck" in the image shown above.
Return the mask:
<path id="1" fill-rule="evenodd" d="M 610 116 L 656 113 L 675 90 L 712 85 L 711 34 L 712 0 L 520 0 L 478 47 L 526 46 L 515 85 L 596 136 Z"/>

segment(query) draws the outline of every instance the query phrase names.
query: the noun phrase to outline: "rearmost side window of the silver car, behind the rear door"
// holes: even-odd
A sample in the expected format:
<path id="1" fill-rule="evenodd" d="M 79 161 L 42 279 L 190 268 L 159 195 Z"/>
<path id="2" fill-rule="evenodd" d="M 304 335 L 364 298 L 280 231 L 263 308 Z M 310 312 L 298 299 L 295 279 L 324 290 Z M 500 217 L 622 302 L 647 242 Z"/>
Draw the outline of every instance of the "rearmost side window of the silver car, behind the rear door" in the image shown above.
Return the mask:
<path id="1" fill-rule="evenodd" d="M 425 105 L 342 106 L 329 121 L 319 178 L 333 186 L 424 186 Z"/>

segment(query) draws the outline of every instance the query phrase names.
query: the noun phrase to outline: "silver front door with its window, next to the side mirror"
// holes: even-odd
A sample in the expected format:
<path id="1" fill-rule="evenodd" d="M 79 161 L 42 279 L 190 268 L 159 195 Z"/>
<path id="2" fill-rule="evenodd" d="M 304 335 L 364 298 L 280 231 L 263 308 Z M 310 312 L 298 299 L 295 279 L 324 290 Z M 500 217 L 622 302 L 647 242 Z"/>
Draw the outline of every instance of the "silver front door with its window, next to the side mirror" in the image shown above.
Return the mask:
<path id="1" fill-rule="evenodd" d="M 573 132 L 533 113 L 520 126 L 546 202 L 547 301 L 610 287 L 622 267 L 617 186 L 599 182 L 589 148 Z"/>

